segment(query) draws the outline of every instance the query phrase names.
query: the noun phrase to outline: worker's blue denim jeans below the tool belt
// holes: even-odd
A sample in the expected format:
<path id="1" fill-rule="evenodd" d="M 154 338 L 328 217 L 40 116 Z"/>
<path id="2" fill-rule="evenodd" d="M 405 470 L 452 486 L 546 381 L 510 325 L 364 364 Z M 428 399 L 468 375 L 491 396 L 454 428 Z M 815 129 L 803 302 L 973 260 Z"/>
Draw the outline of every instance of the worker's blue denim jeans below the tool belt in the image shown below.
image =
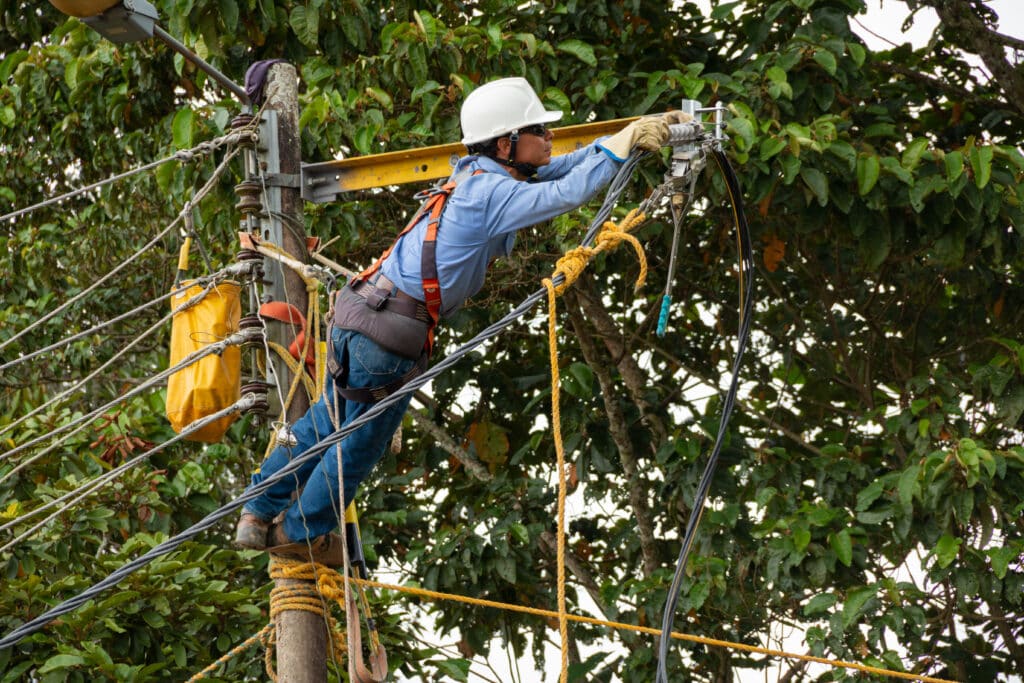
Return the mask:
<path id="1" fill-rule="evenodd" d="M 331 338 L 335 358 L 348 360 L 348 386 L 374 387 L 387 384 L 408 373 L 415 360 L 403 358 L 381 348 L 357 332 L 332 328 Z M 260 468 L 253 473 L 256 485 L 285 467 L 293 458 L 304 454 L 319 440 L 335 431 L 328 407 L 335 400 L 334 380 L 328 376 L 326 398 L 322 396 L 294 425 L 292 433 L 298 439 L 294 446 L 274 449 Z M 285 533 L 301 542 L 330 532 L 343 519 L 344 506 L 355 497 L 355 489 L 384 455 L 394 430 L 409 408 L 412 394 L 406 394 L 383 413 L 362 425 L 318 456 L 303 463 L 294 473 L 273 482 L 258 498 L 245 505 L 245 510 L 262 519 L 273 519 L 282 510 Z M 341 426 L 352 422 L 376 403 L 359 403 L 337 396 L 338 420 Z M 338 490 L 342 477 L 338 472 L 338 449 L 341 449 L 344 477 L 344 506 L 339 509 Z M 302 488 L 298 500 L 292 494 Z"/>

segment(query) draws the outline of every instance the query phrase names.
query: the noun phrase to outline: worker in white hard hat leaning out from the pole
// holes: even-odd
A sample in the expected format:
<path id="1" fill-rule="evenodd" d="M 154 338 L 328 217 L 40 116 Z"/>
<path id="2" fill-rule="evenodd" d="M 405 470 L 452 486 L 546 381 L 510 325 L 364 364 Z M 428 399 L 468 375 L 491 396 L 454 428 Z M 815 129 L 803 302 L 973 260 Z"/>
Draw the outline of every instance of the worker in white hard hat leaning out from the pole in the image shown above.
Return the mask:
<path id="1" fill-rule="evenodd" d="M 669 139 L 669 124 L 689 118 L 681 112 L 643 117 L 552 158 L 548 124 L 561 117 L 546 110 L 522 78 L 492 81 L 466 97 L 460 119 L 469 155 L 442 188 L 428 193 L 378 262 L 336 296 L 327 398 L 292 426 L 296 442 L 278 445 L 251 486 L 422 373 L 438 318 L 480 290 L 487 265 L 509 255 L 518 230 L 583 205 L 614 177 L 634 146 L 657 150 Z M 340 472 L 335 445 L 248 501 L 236 545 L 336 561 L 341 540 L 331 531 L 383 456 L 410 398 L 407 393 L 340 441 Z"/>

